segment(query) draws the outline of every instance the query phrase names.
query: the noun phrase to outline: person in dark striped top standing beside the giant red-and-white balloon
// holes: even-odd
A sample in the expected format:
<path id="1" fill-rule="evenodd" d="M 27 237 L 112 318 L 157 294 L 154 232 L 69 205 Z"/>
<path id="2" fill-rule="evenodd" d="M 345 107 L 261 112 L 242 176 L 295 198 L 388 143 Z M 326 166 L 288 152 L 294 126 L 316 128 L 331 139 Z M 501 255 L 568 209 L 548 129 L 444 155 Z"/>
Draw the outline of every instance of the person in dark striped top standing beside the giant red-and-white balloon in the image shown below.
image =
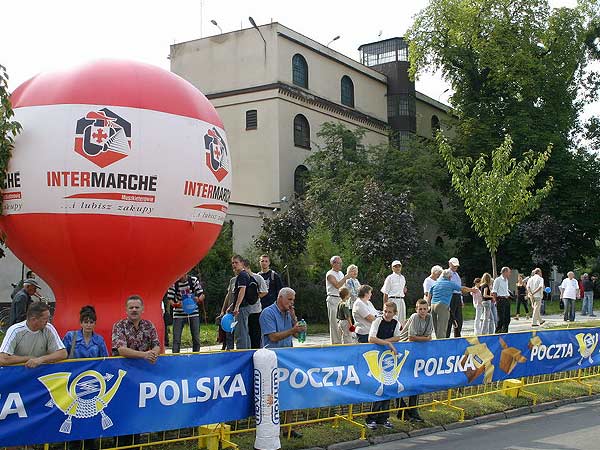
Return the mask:
<path id="1" fill-rule="evenodd" d="M 193 311 L 186 313 L 183 310 L 183 301 L 188 294 L 193 297 L 195 307 Z M 198 278 L 183 274 L 169 288 L 167 298 L 173 309 L 173 353 L 179 353 L 181 349 L 181 334 L 186 323 L 190 327 L 190 333 L 192 334 L 192 351 L 200 351 L 200 315 L 198 314 L 198 304 L 204 301 L 204 291 Z"/>

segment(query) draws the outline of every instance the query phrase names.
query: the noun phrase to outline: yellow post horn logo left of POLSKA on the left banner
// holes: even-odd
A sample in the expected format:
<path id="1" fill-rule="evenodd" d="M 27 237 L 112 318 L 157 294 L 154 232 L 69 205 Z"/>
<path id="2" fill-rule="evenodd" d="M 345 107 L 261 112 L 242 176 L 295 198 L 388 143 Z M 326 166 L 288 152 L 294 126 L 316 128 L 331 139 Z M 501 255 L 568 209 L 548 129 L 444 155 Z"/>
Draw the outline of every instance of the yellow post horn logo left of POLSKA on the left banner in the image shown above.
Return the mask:
<path id="1" fill-rule="evenodd" d="M 56 372 L 39 377 L 38 380 L 50 393 L 50 401 L 46 406 L 56 406 L 67 418 L 60 426 L 60 432 L 71 433 L 72 418 L 89 419 L 98 414 L 102 416 L 102 429 L 106 430 L 113 426 L 110 417 L 104 409 L 113 399 L 121 381 L 127 372 L 119 370 L 119 375 L 112 387 L 107 391 L 107 381 L 113 378 L 112 374 L 102 376 L 95 370 L 86 370 L 77 375 L 70 383 L 71 372 Z"/>

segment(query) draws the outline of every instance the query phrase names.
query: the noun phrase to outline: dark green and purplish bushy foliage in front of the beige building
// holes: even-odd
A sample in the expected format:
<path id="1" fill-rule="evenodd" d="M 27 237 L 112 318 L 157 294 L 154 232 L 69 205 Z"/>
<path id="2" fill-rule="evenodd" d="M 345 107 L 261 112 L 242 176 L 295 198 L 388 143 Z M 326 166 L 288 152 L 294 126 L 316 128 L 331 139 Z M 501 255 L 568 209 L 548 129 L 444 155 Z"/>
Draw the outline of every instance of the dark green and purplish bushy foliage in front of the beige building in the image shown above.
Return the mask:
<path id="1" fill-rule="evenodd" d="M 393 259 L 407 267 L 421 256 L 425 220 L 430 223 L 442 208 L 432 186 L 448 180 L 437 152 L 418 141 L 403 153 L 390 145 L 363 146 L 364 130 L 341 124 L 326 123 L 318 135 L 322 145 L 307 160 L 305 198 L 264 219 L 256 240 L 261 250 L 285 255 L 298 308 L 311 321 L 326 317 L 324 280 L 331 256 L 340 255 L 346 266 L 357 264 L 359 280 L 374 287 L 383 283 Z M 415 186 L 408 190 L 411 181 Z M 417 211 L 423 223 L 417 223 Z M 411 296 L 419 295 L 421 275 L 429 273 L 430 261 L 425 264 L 426 270 L 411 267 L 416 274 Z M 376 289 L 376 301 L 378 295 Z"/>

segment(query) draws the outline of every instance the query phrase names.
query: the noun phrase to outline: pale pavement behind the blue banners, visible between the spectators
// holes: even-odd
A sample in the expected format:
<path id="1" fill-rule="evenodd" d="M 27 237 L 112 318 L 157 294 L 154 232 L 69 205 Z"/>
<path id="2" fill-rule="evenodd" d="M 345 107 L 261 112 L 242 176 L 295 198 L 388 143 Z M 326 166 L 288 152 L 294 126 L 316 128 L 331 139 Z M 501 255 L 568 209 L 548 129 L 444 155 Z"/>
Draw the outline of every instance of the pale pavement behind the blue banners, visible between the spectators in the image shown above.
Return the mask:
<path id="1" fill-rule="evenodd" d="M 557 327 L 569 323 L 571 326 L 577 326 L 577 322 L 584 322 L 589 320 L 589 317 L 581 317 L 577 316 L 575 318 L 575 322 L 564 322 L 562 314 L 553 314 L 548 316 L 542 316 L 542 319 L 545 323 L 539 327 L 531 326 L 531 319 L 525 319 L 521 317 L 519 320 L 515 320 L 514 318 L 510 321 L 509 332 L 518 332 L 518 331 L 531 331 L 531 330 L 543 330 L 548 327 Z M 465 336 L 473 336 L 474 330 L 474 321 L 466 320 L 463 324 L 462 335 Z M 306 342 L 300 344 L 296 339 L 294 339 L 295 347 L 323 347 L 330 345 L 329 344 L 329 335 L 328 334 L 310 334 L 310 324 L 308 325 L 308 334 L 306 336 Z M 182 353 L 191 352 L 191 348 L 182 348 Z M 202 352 L 217 352 L 221 351 L 221 344 L 203 346 L 200 351 Z M 167 349 L 166 353 L 171 353 L 171 349 Z"/>

